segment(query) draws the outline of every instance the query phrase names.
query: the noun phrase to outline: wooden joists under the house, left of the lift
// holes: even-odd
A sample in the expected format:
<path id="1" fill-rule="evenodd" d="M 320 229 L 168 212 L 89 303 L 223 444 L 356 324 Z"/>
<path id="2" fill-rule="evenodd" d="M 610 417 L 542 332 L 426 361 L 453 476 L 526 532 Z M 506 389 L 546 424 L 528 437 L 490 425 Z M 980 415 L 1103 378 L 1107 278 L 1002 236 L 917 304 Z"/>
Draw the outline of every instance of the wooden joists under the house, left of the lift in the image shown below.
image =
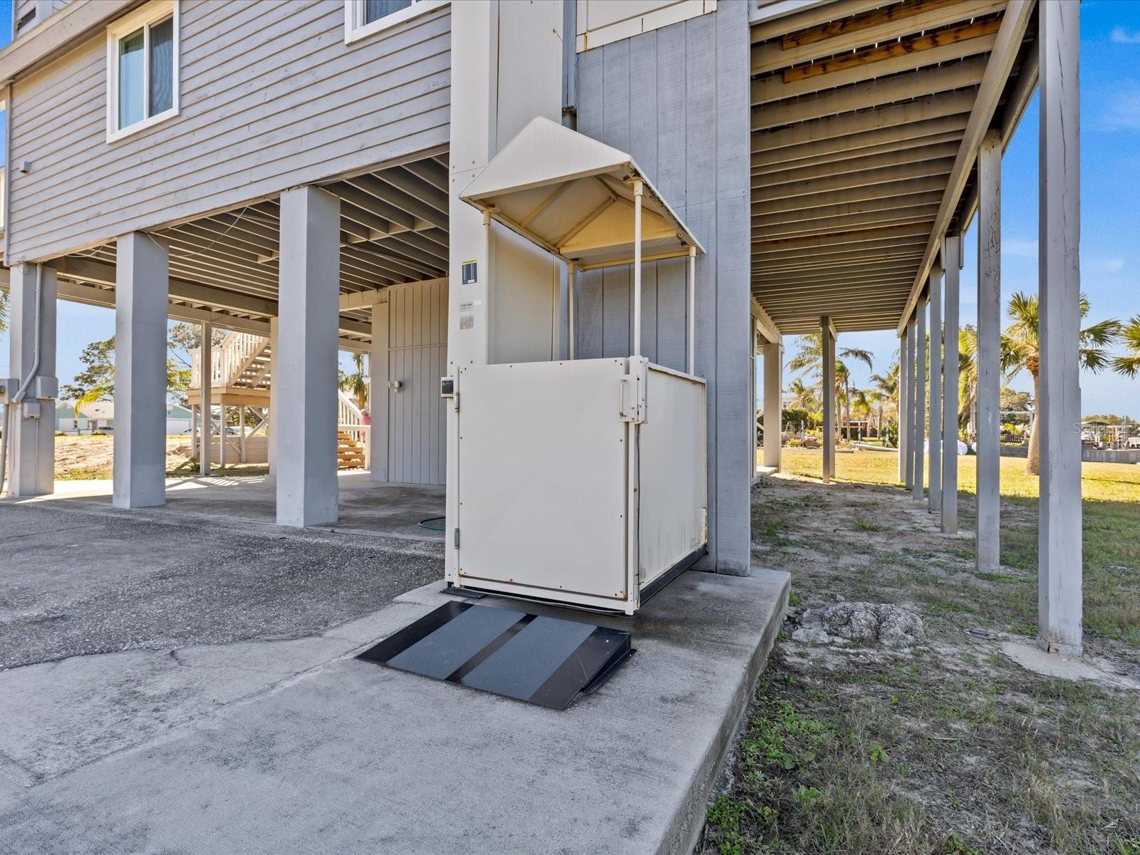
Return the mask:
<path id="1" fill-rule="evenodd" d="M 341 197 L 341 347 L 372 339 L 370 306 L 391 285 L 447 276 L 445 155 L 323 185 Z M 170 317 L 259 335 L 277 315 L 279 206 L 254 199 L 157 228 L 169 247 Z M 114 306 L 115 245 L 54 260 L 67 299 Z M 60 294 L 64 296 L 64 294 Z M 359 295 L 356 299 L 352 295 Z"/>

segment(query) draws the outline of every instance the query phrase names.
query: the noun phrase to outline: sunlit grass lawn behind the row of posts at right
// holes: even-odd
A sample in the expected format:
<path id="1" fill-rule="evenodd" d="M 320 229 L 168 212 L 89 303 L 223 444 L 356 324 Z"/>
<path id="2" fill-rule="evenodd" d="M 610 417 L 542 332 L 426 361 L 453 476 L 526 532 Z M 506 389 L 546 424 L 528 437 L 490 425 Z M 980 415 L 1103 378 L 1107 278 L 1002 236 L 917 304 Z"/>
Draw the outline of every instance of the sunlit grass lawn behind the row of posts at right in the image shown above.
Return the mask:
<path id="1" fill-rule="evenodd" d="M 958 458 L 962 496 L 961 528 L 974 526 L 976 457 Z M 783 471 L 819 478 L 822 451 L 783 449 Z M 836 480 L 897 484 L 897 463 L 887 451 L 836 455 Z M 1084 496 L 1084 624 L 1090 635 L 1115 638 L 1140 648 L 1140 466 L 1123 463 L 1085 463 Z M 1025 471 L 1025 459 L 1001 458 L 1002 564 L 1034 571 L 1037 567 L 1036 475 Z M 972 546 L 963 543 L 963 548 Z M 988 608 L 1005 612 L 1035 634 L 1036 586 L 1011 586 Z M 996 617 L 996 616 L 995 616 Z"/>

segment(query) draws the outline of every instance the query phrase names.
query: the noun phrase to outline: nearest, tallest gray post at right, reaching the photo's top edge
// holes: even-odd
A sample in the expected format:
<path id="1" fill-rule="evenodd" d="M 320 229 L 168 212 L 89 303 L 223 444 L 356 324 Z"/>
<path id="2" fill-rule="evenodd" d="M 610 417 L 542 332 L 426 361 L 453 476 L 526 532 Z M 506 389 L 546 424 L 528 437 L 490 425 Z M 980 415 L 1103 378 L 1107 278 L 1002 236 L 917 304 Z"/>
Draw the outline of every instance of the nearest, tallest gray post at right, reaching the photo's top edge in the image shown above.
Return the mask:
<path id="1" fill-rule="evenodd" d="M 1081 656 L 1081 5 L 1042 3 L 1040 16 L 1037 636 Z"/>

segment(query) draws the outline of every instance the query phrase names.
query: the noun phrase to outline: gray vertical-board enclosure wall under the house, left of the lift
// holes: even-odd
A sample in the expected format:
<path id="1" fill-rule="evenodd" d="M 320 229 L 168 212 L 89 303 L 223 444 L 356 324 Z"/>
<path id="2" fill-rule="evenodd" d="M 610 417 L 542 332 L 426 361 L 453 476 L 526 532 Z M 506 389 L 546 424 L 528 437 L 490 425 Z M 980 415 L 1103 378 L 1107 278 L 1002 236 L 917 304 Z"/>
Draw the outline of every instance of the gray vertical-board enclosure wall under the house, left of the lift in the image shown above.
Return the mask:
<path id="1" fill-rule="evenodd" d="M 447 363 L 447 285 L 389 288 L 389 377 L 404 383 L 383 390 L 389 401 L 388 480 L 443 483 L 445 405 L 439 378 Z"/>

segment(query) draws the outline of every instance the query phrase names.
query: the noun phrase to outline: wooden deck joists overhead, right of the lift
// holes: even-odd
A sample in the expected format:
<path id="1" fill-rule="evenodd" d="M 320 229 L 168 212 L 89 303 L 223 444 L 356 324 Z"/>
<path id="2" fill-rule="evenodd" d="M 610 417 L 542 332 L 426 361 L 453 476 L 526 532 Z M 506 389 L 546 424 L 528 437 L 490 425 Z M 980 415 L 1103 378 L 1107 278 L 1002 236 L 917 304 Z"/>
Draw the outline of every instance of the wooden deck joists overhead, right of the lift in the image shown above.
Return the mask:
<path id="1" fill-rule="evenodd" d="M 833 0 L 752 24 L 752 294 L 783 333 L 909 311 L 1032 7 Z"/>

